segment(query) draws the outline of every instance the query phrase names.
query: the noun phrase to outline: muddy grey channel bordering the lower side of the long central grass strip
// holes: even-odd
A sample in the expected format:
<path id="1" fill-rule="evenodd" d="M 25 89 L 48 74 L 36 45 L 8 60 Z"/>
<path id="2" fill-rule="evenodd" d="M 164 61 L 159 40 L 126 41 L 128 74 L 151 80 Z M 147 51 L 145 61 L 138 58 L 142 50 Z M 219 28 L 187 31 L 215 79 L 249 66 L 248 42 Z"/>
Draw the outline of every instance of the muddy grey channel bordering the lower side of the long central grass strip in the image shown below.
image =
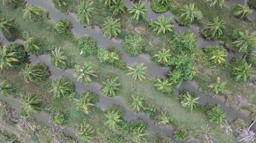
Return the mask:
<path id="1" fill-rule="evenodd" d="M 73 69 L 68 69 L 63 71 L 62 69 L 58 69 L 55 66 L 53 66 L 50 63 L 50 56 L 49 55 L 41 55 L 41 56 L 35 56 L 33 54 L 29 55 L 29 59 L 32 63 L 42 62 L 47 64 L 49 66 L 51 77 L 50 79 L 56 79 L 60 76 L 67 77 L 70 79 L 70 81 L 74 82 L 76 84 L 76 92 L 81 93 L 85 90 L 89 92 L 94 92 L 99 95 L 99 102 L 96 104 L 97 107 L 101 108 L 103 111 L 111 107 L 113 104 L 118 104 L 124 109 L 125 115 L 124 119 L 128 122 L 132 119 L 142 119 L 143 121 L 147 122 L 149 128 L 148 128 L 148 134 L 157 134 L 157 133 L 163 133 L 168 137 L 173 138 L 173 127 L 172 126 L 164 126 L 164 127 L 158 127 L 156 126 L 150 118 L 146 114 L 135 114 L 131 110 L 127 109 L 126 107 L 126 101 L 122 97 L 106 97 L 104 94 L 100 92 L 101 90 L 101 84 L 97 82 L 93 82 L 91 84 L 85 85 L 81 82 L 78 82 L 75 77 L 73 77 L 74 71 Z M 45 120 L 45 119 L 42 119 Z"/>

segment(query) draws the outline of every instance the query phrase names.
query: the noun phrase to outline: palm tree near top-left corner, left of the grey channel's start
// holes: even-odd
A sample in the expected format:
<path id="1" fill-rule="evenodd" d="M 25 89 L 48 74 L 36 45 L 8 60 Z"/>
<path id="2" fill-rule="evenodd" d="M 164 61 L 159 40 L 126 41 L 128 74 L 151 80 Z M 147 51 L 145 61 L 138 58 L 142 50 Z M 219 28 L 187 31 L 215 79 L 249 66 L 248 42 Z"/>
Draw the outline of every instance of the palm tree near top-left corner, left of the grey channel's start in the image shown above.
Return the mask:
<path id="1" fill-rule="evenodd" d="M 37 21 L 38 19 L 42 20 L 44 17 L 46 17 L 45 11 L 38 6 L 27 6 L 26 9 L 24 9 L 24 19 Z"/>

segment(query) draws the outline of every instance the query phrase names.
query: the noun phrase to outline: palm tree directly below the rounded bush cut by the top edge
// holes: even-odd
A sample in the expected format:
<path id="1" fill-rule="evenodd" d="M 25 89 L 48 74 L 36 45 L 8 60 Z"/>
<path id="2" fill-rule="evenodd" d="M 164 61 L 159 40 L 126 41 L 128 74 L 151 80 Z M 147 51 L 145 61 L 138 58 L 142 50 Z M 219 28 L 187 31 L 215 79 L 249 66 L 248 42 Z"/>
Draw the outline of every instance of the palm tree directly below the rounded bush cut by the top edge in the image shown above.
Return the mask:
<path id="1" fill-rule="evenodd" d="M 157 34 L 170 33 L 173 31 L 172 19 L 160 16 L 156 21 L 150 22 L 150 27 L 153 31 L 157 31 Z"/>

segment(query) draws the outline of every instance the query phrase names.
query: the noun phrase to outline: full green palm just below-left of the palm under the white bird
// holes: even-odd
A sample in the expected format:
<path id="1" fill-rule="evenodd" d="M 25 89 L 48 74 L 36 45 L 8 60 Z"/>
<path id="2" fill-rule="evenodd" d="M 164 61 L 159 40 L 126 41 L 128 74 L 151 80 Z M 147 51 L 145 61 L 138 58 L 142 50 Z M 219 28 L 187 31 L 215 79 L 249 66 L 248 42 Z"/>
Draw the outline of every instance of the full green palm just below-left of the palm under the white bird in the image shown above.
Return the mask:
<path id="1" fill-rule="evenodd" d="M 53 92 L 53 96 L 55 98 L 73 97 L 75 89 L 75 84 L 70 82 L 69 79 L 65 77 L 58 77 L 58 79 L 52 81 L 52 89 L 50 92 Z"/>

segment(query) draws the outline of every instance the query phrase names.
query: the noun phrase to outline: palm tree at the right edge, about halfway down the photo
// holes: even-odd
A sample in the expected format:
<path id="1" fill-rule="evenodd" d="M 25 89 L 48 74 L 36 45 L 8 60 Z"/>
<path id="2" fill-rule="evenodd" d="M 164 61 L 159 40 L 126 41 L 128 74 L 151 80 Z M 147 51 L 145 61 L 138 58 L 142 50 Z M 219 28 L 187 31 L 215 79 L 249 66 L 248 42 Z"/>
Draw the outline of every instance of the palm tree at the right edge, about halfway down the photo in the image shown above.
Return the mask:
<path id="1" fill-rule="evenodd" d="M 237 82 L 247 82 L 252 79 L 254 71 L 252 64 L 248 64 L 242 58 L 234 59 L 230 65 L 230 74 Z"/>

